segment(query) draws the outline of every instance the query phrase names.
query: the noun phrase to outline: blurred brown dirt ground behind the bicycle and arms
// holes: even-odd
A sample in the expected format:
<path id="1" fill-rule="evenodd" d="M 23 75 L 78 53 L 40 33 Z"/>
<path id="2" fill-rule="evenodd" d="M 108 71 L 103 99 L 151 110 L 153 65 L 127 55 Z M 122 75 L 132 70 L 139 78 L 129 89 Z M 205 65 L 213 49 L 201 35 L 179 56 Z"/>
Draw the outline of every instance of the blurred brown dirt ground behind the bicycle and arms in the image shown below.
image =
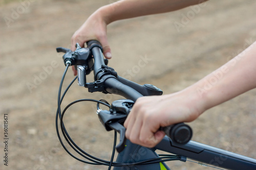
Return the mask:
<path id="1" fill-rule="evenodd" d="M 59 144 L 55 114 L 65 66 L 55 48 L 70 48 L 72 34 L 86 18 L 113 2 L 0 1 L 0 169 L 107 169 L 73 159 Z M 108 39 L 113 59 L 109 65 L 120 76 L 154 84 L 165 94 L 179 91 L 256 40 L 255 7 L 253 0 L 209 1 L 194 8 L 111 23 Z M 63 86 L 72 79 L 69 70 Z M 255 96 L 256 90 L 246 92 L 189 123 L 193 140 L 256 158 Z M 83 98 L 121 99 L 88 93 L 74 83 L 62 109 Z M 109 160 L 113 132 L 103 129 L 95 112 L 95 104 L 79 103 L 67 111 L 65 124 L 83 150 Z M 8 152 L 4 151 L 4 114 L 8 116 Z M 5 153 L 8 166 L 4 165 Z M 168 165 L 182 170 L 212 169 L 180 161 Z"/>

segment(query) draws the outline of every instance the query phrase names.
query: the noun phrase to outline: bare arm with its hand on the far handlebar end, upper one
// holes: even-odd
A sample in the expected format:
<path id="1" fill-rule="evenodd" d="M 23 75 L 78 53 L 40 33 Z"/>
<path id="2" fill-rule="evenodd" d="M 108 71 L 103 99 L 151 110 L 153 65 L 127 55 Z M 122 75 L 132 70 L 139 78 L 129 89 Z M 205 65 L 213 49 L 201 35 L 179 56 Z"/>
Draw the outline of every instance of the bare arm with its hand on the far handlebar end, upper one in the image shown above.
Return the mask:
<path id="1" fill-rule="evenodd" d="M 89 40 L 98 40 L 103 47 L 103 54 L 110 59 L 111 49 L 106 37 L 106 26 L 116 20 L 143 15 L 175 11 L 190 5 L 199 4 L 200 0 L 121 0 L 96 10 L 71 38 L 71 50 L 75 51 L 78 42 L 81 47 Z M 74 70 L 74 67 L 72 67 Z M 76 75 L 74 70 L 74 75 Z"/>

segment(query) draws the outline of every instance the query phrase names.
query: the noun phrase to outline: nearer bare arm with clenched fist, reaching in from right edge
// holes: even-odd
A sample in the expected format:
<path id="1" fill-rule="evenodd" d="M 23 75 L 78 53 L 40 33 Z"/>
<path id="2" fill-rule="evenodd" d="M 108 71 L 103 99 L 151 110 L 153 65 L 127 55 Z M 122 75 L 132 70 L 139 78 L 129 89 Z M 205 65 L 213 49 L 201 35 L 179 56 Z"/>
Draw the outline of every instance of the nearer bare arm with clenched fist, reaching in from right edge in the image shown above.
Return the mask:
<path id="1" fill-rule="evenodd" d="M 256 42 L 197 83 L 173 94 L 139 98 L 124 126 L 125 136 L 145 147 L 164 137 L 160 127 L 191 122 L 205 110 L 256 88 Z"/>

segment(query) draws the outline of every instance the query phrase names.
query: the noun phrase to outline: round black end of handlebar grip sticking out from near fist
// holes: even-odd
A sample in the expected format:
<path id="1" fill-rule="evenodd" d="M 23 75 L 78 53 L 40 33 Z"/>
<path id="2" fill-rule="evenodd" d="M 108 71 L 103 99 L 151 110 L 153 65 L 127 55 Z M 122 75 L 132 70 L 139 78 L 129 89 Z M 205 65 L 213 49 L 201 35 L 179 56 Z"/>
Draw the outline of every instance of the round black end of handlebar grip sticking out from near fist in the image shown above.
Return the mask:
<path id="1" fill-rule="evenodd" d="M 186 144 L 193 134 L 192 129 L 184 123 L 161 127 L 160 130 L 164 131 L 168 137 L 179 144 Z"/>

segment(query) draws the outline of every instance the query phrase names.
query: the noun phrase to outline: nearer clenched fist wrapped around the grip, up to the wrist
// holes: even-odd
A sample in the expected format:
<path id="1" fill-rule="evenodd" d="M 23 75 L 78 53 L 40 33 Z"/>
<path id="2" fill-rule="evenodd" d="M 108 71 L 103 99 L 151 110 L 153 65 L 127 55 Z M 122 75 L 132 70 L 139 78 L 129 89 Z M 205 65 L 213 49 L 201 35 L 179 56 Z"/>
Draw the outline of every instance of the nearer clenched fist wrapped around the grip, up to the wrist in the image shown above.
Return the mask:
<path id="1" fill-rule="evenodd" d="M 194 96 L 182 91 L 139 98 L 124 122 L 126 138 L 144 147 L 155 147 L 165 136 L 160 127 L 191 122 L 203 112 L 196 107 Z"/>

